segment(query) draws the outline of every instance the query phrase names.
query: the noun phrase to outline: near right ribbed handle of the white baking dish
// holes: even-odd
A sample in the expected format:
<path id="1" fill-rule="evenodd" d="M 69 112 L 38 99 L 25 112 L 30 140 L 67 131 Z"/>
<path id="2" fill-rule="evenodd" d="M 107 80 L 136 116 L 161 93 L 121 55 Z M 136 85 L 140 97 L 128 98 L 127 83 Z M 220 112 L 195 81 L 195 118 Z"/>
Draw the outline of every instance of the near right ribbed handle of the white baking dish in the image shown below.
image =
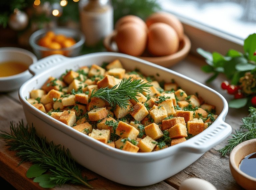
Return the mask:
<path id="1" fill-rule="evenodd" d="M 184 151 L 189 151 L 193 153 L 205 153 L 217 144 L 224 141 L 232 132 L 232 127 L 225 123 L 221 118 L 216 120 L 214 128 L 206 129 L 207 133 L 204 136 L 194 136 L 191 138 L 190 142 L 185 148 Z"/>

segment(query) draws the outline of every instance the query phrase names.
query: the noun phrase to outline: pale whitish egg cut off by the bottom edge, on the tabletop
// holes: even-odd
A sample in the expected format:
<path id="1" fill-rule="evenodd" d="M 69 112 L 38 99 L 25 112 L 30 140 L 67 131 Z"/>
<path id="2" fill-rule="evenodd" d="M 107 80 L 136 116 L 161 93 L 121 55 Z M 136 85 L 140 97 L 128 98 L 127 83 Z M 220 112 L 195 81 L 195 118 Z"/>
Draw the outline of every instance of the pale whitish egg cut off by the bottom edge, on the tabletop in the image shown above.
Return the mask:
<path id="1" fill-rule="evenodd" d="M 210 182 L 199 179 L 189 178 L 184 180 L 179 187 L 179 190 L 217 190 Z"/>

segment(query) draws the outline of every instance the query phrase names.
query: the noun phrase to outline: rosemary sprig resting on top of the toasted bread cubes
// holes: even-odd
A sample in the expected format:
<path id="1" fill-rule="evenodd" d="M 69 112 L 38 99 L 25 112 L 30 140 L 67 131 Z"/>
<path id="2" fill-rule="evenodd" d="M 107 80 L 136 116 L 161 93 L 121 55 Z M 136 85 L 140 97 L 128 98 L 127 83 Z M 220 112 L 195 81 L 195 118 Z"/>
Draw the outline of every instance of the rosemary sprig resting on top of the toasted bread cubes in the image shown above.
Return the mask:
<path id="1" fill-rule="evenodd" d="M 95 92 L 93 89 L 90 99 L 97 97 L 106 100 L 112 107 L 118 105 L 121 108 L 127 108 L 129 105 L 128 100 L 133 99 L 138 102 L 136 96 L 138 96 L 139 92 L 149 92 L 148 88 L 152 86 L 150 82 L 145 83 L 142 80 L 132 80 L 132 77 L 129 77 L 128 79 L 122 80 L 119 86 L 115 85 L 110 89 L 108 87 L 100 88 Z"/>

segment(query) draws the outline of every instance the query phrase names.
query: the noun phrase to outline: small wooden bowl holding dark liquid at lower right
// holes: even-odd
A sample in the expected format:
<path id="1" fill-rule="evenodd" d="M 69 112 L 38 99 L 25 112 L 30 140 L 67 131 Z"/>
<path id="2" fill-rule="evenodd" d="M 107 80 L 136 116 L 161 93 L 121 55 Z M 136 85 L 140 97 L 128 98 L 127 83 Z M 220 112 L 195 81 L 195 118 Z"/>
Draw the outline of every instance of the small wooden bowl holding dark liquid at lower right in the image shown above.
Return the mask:
<path id="1" fill-rule="evenodd" d="M 247 190 L 256 190 L 256 178 L 247 175 L 239 169 L 241 160 L 256 152 L 256 139 L 248 140 L 238 144 L 230 153 L 229 167 L 236 182 Z"/>

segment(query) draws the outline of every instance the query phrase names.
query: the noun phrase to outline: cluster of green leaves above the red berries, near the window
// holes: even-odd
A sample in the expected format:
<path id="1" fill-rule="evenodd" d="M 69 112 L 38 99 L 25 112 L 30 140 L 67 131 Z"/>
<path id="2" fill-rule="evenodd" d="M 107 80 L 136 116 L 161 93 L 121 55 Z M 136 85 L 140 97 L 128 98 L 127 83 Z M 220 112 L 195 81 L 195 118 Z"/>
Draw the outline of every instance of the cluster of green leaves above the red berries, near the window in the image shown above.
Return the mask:
<path id="1" fill-rule="evenodd" d="M 231 84 L 237 85 L 239 78 L 241 78 L 245 72 L 256 71 L 256 56 L 254 52 L 256 50 L 256 34 L 250 35 L 244 41 L 245 53 L 238 52 L 234 49 L 230 49 L 225 56 L 220 53 L 213 52 L 212 54 L 198 48 L 197 52 L 206 58 L 206 63 L 201 69 L 206 73 L 213 73 L 213 75 L 206 81 L 213 81 L 219 73 L 224 73 L 226 77 L 231 80 Z"/>

